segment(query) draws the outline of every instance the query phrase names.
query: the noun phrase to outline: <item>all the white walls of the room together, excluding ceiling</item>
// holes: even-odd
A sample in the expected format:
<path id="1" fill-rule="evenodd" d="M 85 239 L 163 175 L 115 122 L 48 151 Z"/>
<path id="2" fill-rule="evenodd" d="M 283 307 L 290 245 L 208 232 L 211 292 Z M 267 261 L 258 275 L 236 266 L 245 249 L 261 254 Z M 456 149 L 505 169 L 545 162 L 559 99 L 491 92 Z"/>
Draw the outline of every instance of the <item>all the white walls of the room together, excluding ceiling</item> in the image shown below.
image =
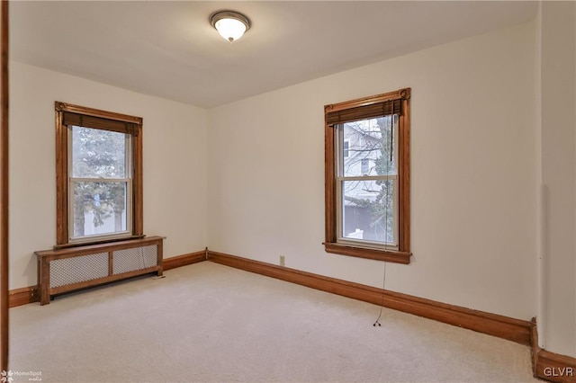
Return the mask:
<path id="1" fill-rule="evenodd" d="M 10 289 L 37 283 L 33 252 L 55 243 L 54 101 L 144 118 L 144 228 L 167 236 L 165 257 L 205 245 L 285 255 L 288 267 L 382 287 L 383 263 L 321 245 L 323 106 L 410 86 L 414 255 L 388 265 L 386 289 L 537 311 L 542 345 L 576 356 L 575 25 L 574 4 L 543 2 L 535 23 L 208 112 L 12 61 Z"/>

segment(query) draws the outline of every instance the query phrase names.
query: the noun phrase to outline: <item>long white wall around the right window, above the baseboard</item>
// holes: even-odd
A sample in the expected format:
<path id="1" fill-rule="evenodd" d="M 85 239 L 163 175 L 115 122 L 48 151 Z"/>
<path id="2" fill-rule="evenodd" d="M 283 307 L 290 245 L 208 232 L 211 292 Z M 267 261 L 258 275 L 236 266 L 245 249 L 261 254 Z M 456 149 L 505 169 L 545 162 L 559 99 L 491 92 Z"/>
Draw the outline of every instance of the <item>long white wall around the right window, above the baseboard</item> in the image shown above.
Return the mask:
<path id="1" fill-rule="evenodd" d="M 322 77 L 210 111 L 209 248 L 382 287 L 383 263 L 327 254 L 323 106 L 412 88 L 410 265 L 386 289 L 536 312 L 535 25 Z"/>

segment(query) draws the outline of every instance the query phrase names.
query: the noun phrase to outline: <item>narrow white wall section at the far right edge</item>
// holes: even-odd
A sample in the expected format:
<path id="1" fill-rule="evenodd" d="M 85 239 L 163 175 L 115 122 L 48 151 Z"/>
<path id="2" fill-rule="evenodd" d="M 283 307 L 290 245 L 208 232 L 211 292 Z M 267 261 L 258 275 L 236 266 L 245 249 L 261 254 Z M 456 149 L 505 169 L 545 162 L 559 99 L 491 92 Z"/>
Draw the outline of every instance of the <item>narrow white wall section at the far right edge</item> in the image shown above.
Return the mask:
<path id="1" fill-rule="evenodd" d="M 576 357 L 576 6 L 542 2 L 538 19 L 538 165 L 545 187 L 538 332 L 546 350 Z"/>

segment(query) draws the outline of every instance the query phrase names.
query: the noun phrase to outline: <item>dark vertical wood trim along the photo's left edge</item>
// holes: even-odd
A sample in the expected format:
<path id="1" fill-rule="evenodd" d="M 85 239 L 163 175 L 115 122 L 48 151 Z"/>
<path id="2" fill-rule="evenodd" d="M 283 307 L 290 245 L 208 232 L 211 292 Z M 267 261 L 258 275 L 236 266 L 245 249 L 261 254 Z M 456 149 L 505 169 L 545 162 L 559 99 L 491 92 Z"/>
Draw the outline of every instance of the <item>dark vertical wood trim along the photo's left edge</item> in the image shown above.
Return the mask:
<path id="1" fill-rule="evenodd" d="M 0 4 L 0 370 L 8 370 L 8 2 Z"/>

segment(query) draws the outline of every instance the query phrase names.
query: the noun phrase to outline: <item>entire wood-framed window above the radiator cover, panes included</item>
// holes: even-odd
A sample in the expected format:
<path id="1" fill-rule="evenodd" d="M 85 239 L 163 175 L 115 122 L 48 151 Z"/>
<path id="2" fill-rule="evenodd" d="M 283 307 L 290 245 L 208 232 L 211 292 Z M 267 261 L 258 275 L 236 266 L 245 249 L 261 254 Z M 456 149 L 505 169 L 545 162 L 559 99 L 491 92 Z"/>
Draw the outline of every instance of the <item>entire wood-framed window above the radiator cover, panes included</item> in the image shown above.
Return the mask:
<path id="1" fill-rule="evenodd" d="M 142 235 L 142 119 L 56 102 L 57 245 Z"/>

